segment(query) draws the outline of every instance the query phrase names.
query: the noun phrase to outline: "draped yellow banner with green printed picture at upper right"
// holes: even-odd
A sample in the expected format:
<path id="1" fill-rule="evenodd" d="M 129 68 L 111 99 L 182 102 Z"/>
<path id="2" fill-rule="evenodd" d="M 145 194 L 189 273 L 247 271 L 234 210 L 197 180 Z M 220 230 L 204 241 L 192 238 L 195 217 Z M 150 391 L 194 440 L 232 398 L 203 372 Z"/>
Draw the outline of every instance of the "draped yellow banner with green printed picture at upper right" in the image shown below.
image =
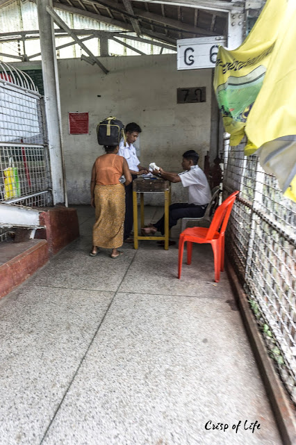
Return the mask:
<path id="1" fill-rule="evenodd" d="M 268 0 L 245 42 L 220 47 L 214 88 L 230 144 L 245 134 L 284 195 L 296 201 L 296 1 Z"/>

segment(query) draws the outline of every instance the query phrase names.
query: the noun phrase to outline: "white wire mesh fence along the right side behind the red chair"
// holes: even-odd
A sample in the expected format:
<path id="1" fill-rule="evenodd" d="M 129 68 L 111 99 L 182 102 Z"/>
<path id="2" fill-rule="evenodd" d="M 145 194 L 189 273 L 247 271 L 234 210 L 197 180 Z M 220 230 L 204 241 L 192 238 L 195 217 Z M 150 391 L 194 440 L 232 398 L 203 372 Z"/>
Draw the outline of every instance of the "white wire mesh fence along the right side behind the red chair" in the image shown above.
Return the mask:
<path id="1" fill-rule="evenodd" d="M 283 382 L 296 403 L 296 205 L 245 143 L 224 151 L 224 191 L 240 194 L 227 250 Z"/>

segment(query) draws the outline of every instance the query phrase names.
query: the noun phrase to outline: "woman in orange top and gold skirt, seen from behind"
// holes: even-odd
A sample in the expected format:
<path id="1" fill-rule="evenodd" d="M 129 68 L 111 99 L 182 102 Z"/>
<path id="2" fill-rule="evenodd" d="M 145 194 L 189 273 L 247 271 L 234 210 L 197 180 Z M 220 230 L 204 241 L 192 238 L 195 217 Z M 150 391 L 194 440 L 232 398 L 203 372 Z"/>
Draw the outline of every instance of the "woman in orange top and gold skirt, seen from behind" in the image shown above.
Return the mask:
<path id="1" fill-rule="evenodd" d="M 90 183 L 91 204 L 95 207 L 95 218 L 92 231 L 92 250 L 95 257 L 98 248 L 112 249 L 111 258 L 122 254 L 125 216 L 124 185 L 131 184 L 129 165 L 122 156 L 117 156 L 119 146 L 104 146 L 106 154 L 99 156 L 92 167 Z M 120 177 L 125 176 L 125 183 L 120 184 Z"/>

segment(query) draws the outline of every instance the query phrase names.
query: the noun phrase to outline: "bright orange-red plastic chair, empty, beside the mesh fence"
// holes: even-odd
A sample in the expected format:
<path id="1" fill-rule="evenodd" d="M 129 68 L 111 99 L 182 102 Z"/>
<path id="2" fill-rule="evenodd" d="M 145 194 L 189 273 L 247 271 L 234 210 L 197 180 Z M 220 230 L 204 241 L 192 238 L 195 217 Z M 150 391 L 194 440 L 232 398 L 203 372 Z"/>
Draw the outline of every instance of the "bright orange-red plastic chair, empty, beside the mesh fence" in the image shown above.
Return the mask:
<path id="1" fill-rule="evenodd" d="M 192 243 L 211 243 L 214 254 L 215 282 L 220 280 L 220 270 L 224 270 L 224 234 L 239 191 L 231 193 L 217 208 L 210 227 L 191 227 L 185 229 L 179 238 L 178 278 L 181 278 L 184 243 L 187 241 L 187 264 L 191 264 Z"/>

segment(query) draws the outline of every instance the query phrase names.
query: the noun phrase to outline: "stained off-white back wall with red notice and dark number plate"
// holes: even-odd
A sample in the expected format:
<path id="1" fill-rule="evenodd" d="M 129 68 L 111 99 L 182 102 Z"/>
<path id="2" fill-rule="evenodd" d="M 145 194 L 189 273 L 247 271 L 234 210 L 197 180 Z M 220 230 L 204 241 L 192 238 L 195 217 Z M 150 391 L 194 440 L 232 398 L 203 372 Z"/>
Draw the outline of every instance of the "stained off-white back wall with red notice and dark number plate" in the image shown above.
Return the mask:
<path id="1" fill-rule="evenodd" d="M 79 59 L 58 60 L 69 203 L 90 202 L 92 164 L 104 152 L 96 127 L 109 115 L 142 127 L 142 165 L 156 162 L 165 170 L 181 171 L 181 155 L 195 149 L 202 166 L 210 147 L 211 70 L 177 71 L 175 54 L 100 60 L 110 70 L 107 75 Z M 205 103 L 176 104 L 177 88 L 200 86 L 206 86 Z M 69 135 L 68 113 L 75 111 L 90 113 L 90 134 Z M 173 202 L 186 199 L 182 186 L 173 186 Z M 149 195 L 145 202 L 158 201 Z"/>

